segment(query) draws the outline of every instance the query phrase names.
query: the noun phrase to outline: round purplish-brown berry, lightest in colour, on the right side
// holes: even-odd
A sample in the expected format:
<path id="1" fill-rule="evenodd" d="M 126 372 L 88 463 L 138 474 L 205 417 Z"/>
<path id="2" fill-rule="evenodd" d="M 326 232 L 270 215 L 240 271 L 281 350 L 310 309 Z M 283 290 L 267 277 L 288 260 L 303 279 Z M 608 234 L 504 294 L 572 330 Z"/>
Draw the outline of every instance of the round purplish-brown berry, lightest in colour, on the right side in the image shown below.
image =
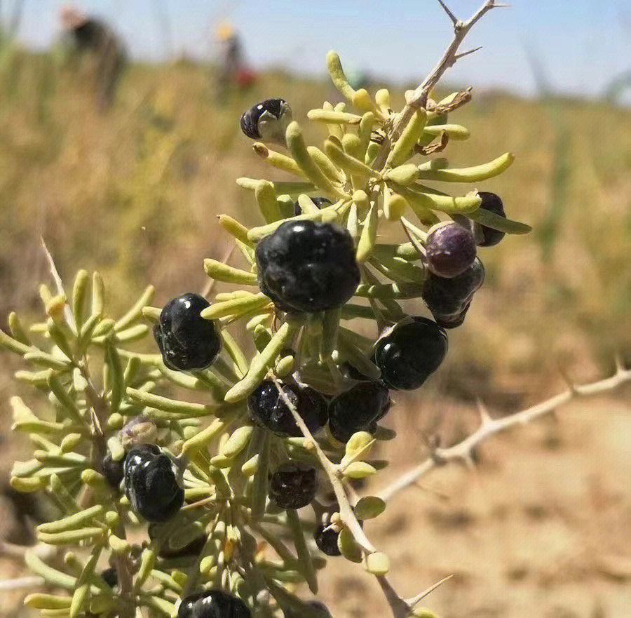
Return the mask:
<path id="1" fill-rule="evenodd" d="M 425 250 L 430 272 L 439 277 L 455 277 L 473 264 L 475 238 L 462 225 L 445 223 L 430 230 Z"/>

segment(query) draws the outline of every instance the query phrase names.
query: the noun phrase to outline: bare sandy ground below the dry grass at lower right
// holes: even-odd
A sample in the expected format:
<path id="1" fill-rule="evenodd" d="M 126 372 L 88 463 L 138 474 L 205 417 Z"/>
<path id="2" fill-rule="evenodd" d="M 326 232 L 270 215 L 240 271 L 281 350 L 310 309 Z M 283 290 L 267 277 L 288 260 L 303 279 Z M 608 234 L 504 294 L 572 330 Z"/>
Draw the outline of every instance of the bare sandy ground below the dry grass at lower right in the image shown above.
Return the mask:
<path id="1" fill-rule="evenodd" d="M 554 418 L 491 438 L 475 469 L 446 466 L 393 498 L 366 530 L 391 557 L 395 588 L 412 596 L 453 575 L 426 600 L 441 618 L 628 618 L 629 394 L 627 387 L 615 398 L 575 401 Z M 445 417 L 473 419 L 469 410 L 440 404 Z M 379 483 L 412 463 L 414 431 L 403 435 L 409 448 L 388 445 L 395 462 Z M 15 535 L 8 509 L 0 525 Z M 21 572 L 14 560 L 0 559 L 0 568 L 4 577 Z M 20 593 L 0 594 L 1 616 L 26 615 Z M 335 618 L 389 615 L 372 577 L 343 558 L 325 568 L 320 598 Z"/>

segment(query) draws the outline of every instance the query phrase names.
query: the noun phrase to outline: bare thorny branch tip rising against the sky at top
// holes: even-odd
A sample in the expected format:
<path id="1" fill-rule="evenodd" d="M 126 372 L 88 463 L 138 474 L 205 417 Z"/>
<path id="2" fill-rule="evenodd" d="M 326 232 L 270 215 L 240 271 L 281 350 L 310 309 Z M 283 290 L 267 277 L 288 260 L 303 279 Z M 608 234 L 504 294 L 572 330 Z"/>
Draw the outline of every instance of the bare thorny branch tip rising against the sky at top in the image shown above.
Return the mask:
<path id="1" fill-rule="evenodd" d="M 416 90 L 414 90 L 414 93 L 407 101 L 405 107 L 396 117 L 396 121 L 392 128 L 391 134 L 388 135 L 386 140 L 384 140 L 384 143 L 381 145 L 381 152 L 379 152 L 379 156 L 377 156 L 373 164 L 373 168 L 376 170 L 380 170 L 381 168 L 383 168 L 384 163 L 386 162 L 386 157 L 388 156 L 388 152 L 390 152 L 391 144 L 393 144 L 398 139 L 399 135 L 401 135 L 402 130 L 405 128 L 405 126 L 407 126 L 407 123 L 412 118 L 412 114 L 414 114 L 416 109 L 419 109 L 419 107 L 426 107 L 429 93 L 431 92 L 432 88 L 438 83 L 445 71 L 447 71 L 447 69 L 449 69 L 450 67 L 453 67 L 456 63 L 456 60 L 459 60 L 459 58 L 463 58 L 463 56 L 477 51 L 476 49 L 473 49 L 461 54 L 458 53 L 458 48 L 460 47 L 465 36 L 467 36 L 470 29 L 473 28 L 473 26 L 475 26 L 475 24 L 486 13 L 491 11 L 492 8 L 507 6 L 506 4 L 499 4 L 498 2 L 496 2 L 496 0 L 485 0 L 484 4 L 482 4 L 482 6 L 480 6 L 480 8 L 478 8 L 477 11 L 475 11 L 475 13 L 471 15 L 468 20 L 466 20 L 466 22 L 462 22 L 461 20 L 456 18 L 454 13 L 452 13 L 452 11 L 447 8 L 446 4 L 442 0 L 438 1 L 445 13 L 447 13 L 449 19 L 452 20 L 454 24 L 454 38 L 452 39 L 452 42 L 449 43 L 449 47 L 447 47 L 445 53 L 442 54 L 442 58 L 440 58 L 437 65 L 430 71 L 428 76 L 423 80 L 423 83 L 421 83 L 421 85 L 416 88 Z"/>

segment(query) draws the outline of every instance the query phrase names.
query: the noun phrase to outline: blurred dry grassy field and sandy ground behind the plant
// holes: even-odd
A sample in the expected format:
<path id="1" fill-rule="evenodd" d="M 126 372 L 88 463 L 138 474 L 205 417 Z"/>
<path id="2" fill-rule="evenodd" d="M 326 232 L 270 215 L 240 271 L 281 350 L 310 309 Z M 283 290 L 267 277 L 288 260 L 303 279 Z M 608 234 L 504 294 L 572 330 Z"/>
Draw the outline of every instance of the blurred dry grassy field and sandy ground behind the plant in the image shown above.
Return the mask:
<path id="1" fill-rule="evenodd" d="M 80 267 L 103 274 L 115 311 L 147 283 L 156 306 L 203 290 L 203 258 L 221 259 L 230 245 L 216 215 L 260 221 L 236 177 L 281 177 L 240 133 L 241 112 L 282 96 L 305 121 L 311 107 L 339 100 L 327 81 L 280 69 L 222 103 L 215 83 L 215 69 L 193 60 L 134 62 L 102 113 L 88 68 L 1 48 L 0 328 L 10 310 L 39 315 L 37 289 L 48 278 L 41 236 L 68 281 Z M 382 86 L 406 87 L 367 88 Z M 480 249 L 487 279 L 465 325 L 450 332 L 447 361 L 390 415 L 400 433 L 384 453 L 392 476 L 422 455 L 426 436 L 454 441 L 475 426 L 477 397 L 502 414 L 559 391 L 559 367 L 585 381 L 609 375 L 616 353 L 631 361 L 630 109 L 474 89 L 450 120 L 471 131 L 449 145 L 452 165 L 515 153 L 506 174 L 479 187 L 534 232 Z M 325 133 L 306 125 L 306 137 Z M 24 389 L 10 382 L 13 359 L 0 358 L 6 485 L 17 448 L 8 397 Z M 428 599 L 444 618 L 628 616 L 629 394 L 571 405 L 485 445 L 476 471 L 440 470 L 395 499 L 370 530 L 393 558 L 395 583 L 412 593 L 454 573 Z M 0 534 L 28 542 L 22 524 L 34 507 L 14 502 L 4 490 Z M 21 572 L 14 560 L 0 557 L 0 567 Z M 322 598 L 337 618 L 385 615 L 369 577 L 339 563 L 327 567 Z M 21 615 L 18 595 L 10 600 L 0 598 L 0 615 Z"/>

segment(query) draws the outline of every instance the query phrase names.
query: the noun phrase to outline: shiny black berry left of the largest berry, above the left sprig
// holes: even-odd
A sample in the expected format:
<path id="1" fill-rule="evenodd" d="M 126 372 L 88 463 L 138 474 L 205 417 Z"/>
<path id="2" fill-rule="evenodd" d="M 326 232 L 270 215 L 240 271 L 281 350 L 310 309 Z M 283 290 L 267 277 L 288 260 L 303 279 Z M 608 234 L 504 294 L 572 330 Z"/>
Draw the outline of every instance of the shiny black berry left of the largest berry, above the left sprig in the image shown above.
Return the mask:
<path id="1" fill-rule="evenodd" d="M 154 326 L 164 364 L 173 370 L 208 367 L 217 358 L 222 340 L 212 320 L 200 316 L 209 303 L 198 294 L 182 294 L 163 307 Z"/>

